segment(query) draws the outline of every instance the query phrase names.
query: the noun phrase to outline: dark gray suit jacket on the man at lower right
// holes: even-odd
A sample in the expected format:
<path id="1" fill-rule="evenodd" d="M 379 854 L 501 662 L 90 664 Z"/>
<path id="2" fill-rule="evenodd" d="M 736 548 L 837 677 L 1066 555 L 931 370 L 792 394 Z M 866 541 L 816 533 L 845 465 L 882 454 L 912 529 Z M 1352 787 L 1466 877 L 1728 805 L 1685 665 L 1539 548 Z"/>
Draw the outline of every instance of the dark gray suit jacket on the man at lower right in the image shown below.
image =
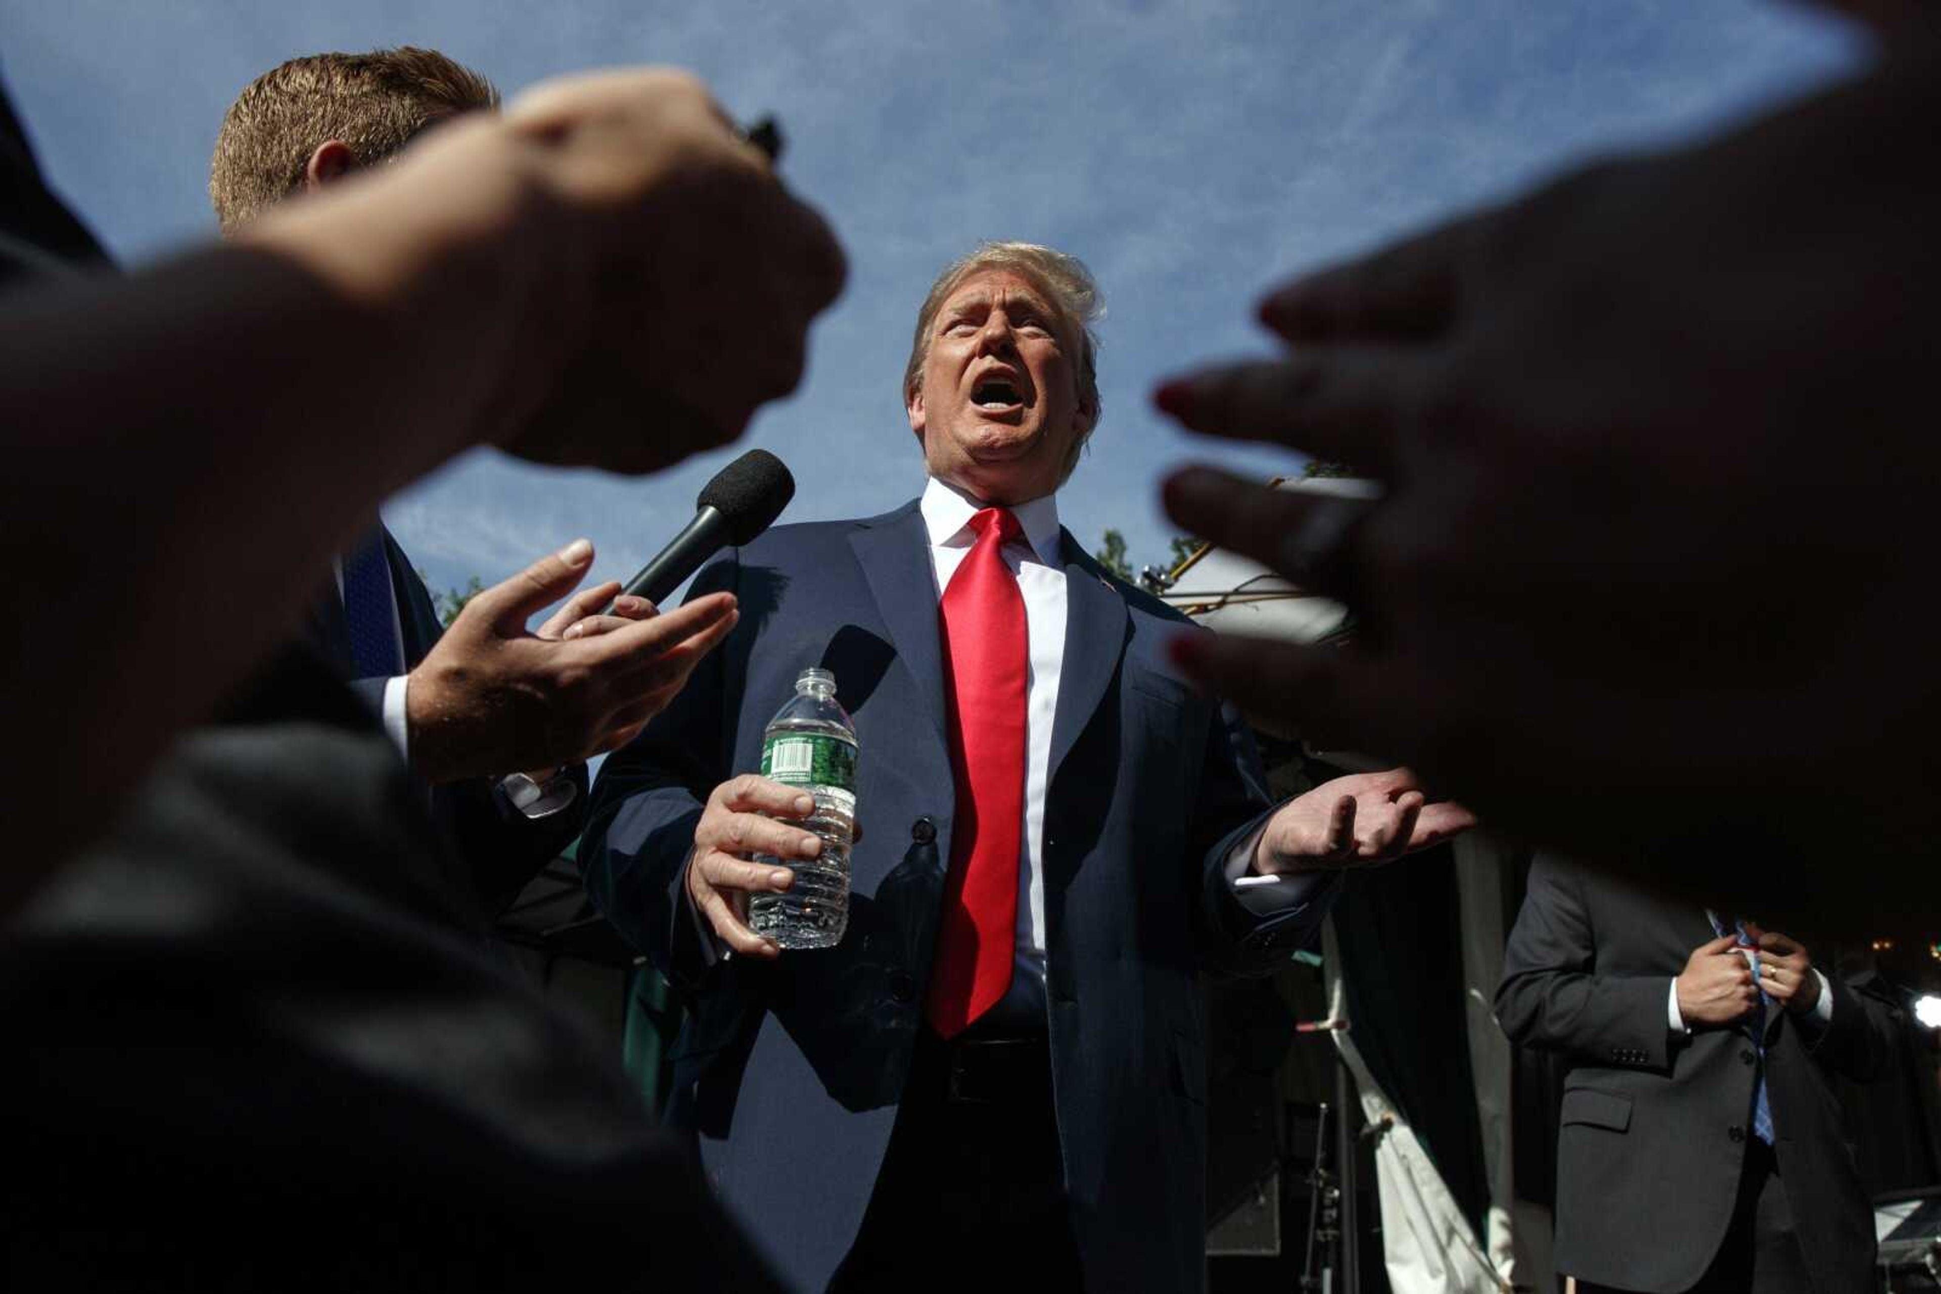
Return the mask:
<path id="1" fill-rule="evenodd" d="M 1673 1034 L 1671 980 L 1714 937 L 1702 908 L 1539 857 L 1504 951 L 1497 1019 L 1570 1057 L 1557 1147 L 1557 1269 L 1627 1290 L 1685 1290 L 1731 1224 L 1751 1133 L 1749 1034 Z M 1828 1073 L 1867 1081 L 1892 1042 L 1885 1005 L 1836 976 L 1832 1020 L 1768 1013 L 1766 1100 L 1780 1178 L 1823 1294 L 1867 1288 L 1873 1214 Z"/>

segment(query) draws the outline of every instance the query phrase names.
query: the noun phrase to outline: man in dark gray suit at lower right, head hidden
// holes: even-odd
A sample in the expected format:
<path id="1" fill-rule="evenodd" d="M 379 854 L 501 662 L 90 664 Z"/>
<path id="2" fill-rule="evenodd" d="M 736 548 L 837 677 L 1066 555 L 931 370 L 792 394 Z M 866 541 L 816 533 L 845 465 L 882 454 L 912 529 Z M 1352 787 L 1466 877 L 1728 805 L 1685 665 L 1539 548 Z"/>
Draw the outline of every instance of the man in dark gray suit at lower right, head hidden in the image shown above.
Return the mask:
<path id="1" fill-rule="evenodd" d="M 1867 1288 L 1873 1214 L 1830 1079 L 1889 1007 L 1786 935 L 1539 857 L 1497 1019 L 1563 1051 L 1557 1267 L 1580 1288 Z"/>

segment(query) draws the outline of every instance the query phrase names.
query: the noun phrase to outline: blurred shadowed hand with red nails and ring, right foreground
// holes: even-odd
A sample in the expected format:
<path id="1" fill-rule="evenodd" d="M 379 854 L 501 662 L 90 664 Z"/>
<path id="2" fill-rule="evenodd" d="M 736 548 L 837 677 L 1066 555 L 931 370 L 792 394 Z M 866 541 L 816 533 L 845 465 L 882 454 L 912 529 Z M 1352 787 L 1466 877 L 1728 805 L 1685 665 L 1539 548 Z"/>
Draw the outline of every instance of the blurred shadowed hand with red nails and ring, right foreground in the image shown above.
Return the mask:
<path id="1" fill-rule="evenodd" d="M 1194 468 L 1167 510 L 1359 629 L 1188 640 L 1182 663 L 1502 828 L 1854 914 L 1850 881 L 1766 867 L 1927 840 L 1937 72 L 1889 62 L 1271 293 L 1287 353 L 1157 404 L 1386 495 Z"/>

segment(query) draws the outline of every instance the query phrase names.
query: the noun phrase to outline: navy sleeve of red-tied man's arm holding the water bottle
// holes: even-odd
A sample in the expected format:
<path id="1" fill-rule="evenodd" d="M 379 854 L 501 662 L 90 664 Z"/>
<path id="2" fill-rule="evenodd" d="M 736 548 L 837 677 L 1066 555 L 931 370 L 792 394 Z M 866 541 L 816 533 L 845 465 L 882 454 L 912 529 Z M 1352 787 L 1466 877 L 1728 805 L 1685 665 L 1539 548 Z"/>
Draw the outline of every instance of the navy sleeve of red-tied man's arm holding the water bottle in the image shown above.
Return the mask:
<path id="1" fill-rule="evenodd" d="M 738 580 L 730 549 L 730 557 L 695 576 L 687 598 L 736 592 Z M 681 987 L 693 987 L 710 964 L 695 918 L 681 902 L 681 877 L 701 807 L 730 772 L 724 675 L 741 646 L 736 634 L 695 665 L 687 687 L 639 737 L 608 757 L 580 840 L 580 869 L 594 906 Z"/>

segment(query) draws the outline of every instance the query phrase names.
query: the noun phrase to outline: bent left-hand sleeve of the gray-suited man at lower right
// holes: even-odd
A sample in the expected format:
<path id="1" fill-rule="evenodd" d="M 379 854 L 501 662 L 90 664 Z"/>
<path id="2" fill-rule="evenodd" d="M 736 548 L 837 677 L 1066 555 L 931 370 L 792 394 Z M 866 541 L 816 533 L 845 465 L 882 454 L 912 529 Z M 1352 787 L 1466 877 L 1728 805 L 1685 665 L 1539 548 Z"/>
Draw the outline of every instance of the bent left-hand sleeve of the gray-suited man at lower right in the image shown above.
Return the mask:
<path id="1" fill-rule="evenodd" d="M 1596 1065 L 1671 1063 L 1671 976 L 1597 974 L 1597 939 L 1582 879 L 1539 857 L 1502 951 L 1497 1022 L 1510 1042 Z"/>

